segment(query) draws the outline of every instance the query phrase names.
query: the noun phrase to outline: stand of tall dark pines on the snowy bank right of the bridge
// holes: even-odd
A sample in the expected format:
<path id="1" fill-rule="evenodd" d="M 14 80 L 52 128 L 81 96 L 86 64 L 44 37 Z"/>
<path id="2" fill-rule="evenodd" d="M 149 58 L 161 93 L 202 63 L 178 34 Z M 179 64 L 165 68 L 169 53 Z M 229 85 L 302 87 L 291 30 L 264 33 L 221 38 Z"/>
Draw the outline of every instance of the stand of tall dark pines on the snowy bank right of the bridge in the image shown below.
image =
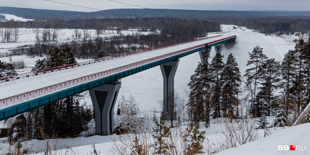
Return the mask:
<path id="1" fill-rule="evenodd" d="M 189 121 L 208 126 L 212 118 L 275 116 L 275 127 L 291 126 L 310 102 L 309 53 L 310 40 L 300 39 L 278 62 L 257 46 L 249 52 L 244 78 L 232 54 L 226 63 L 218 53 L 210 64 L 207 60 L 199 63 L 188 83 Z M 310 113 L 306 117 L 309 120 Z"/>

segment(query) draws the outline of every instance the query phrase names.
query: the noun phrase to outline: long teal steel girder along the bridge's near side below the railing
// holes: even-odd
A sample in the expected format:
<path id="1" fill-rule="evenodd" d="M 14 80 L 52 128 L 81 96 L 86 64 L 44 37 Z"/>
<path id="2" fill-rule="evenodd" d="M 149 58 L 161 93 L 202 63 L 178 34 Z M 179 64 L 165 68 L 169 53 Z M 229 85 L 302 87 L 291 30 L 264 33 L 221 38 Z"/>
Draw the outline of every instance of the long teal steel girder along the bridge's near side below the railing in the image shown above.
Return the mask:
<path id="1" fill-rule="evenodd" d="M 236 37 L 237 36 L 231 36 L 229 38 L 227 37 L 227 39 L 222 39 L 221 41 L 208 42 L 207 46 L 209 48 L 209 47 L 215 46 L 217 44 L 221 44 L 224 42 L 235 40 Z M 50 94 L 47 94 L 47 95 L 44 95 L 44 96 L 41 96 L 38 98 L 30 99 L 30 100 L 27 100 L 25 102 L 14 104 L 12 106 L 4 107 L 4 108 L 0 109 L 0 121 L 14 117 L 18 114 L 22 114 L 22 113 L 25 113 L 27 111 L 30 111 L 30 110 L 33 110 L 36 108 L 42 107 L 44 105 L 53 103 L 55 101 L 73 96 L 75 94 L 82 93 L 84 91 L 88 91 L 89 89 L 96 88 L 98 86 L 101 86 L 101 85 L 104 85 L 107 83 L 115 82 L 121 78 L 125 78 L 127 76 L 133 75 L 135 73 L 142 72 L 142 71 L 147 70 L 149 68 L 159 66 L 159 65 L 167 63 L 169 61 L 177 60 L 179 58 L 185 57 L 189 54 L 192 54 L 192 53 L 195 53 L 198 51 L 202 51 L 204 49 L 206 49 L 206 46 L 198 47 L 198 48 L 189 50 L 187 52 L 179 53 L 179 54 L 167 57 L 167 58 L 160 59 L 158 61 L 154 61 L 151 63 L 147 63 L 145 65 L 138 66 L 136 68 L 124 70 L 122 72 L 115 73 L 115 74 L 112 74 L 112 75 L 109 75 L 106 77 L 102 77 L 102 78 L 99 78 L 97 80 L 89 81 L 86 83 L 81 83 L 81 84 L 74 86 L 74 87 L 66 88 L 66 89 L 63 89 L 63 90 L 60 90 L 60 91 L 57 91 L 54 93 L 50 93 Z"/>

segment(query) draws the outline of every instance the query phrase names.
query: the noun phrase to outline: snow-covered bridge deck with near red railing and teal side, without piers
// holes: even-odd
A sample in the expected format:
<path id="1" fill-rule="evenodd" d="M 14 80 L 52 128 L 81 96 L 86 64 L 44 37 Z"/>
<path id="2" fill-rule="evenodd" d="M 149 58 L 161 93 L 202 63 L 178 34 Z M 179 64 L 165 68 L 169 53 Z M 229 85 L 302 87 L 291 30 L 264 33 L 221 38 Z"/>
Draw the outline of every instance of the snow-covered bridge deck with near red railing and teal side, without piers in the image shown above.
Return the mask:
<path id="1" fill-rule="evenodd" d="M 173 47 L 157 49 L 151 52 L 139 53 L 139 54 L 135 54 L 135 55 L 127 56 L 127 57 L 89 64 L 86 66 L 80 66 L 76 68 L 61 70 L 58 72 L 40 74 L 40 75 L 33 76 L 33 77 L 21 78 L 18 80 L 0 83 L 0 99 L 8 98 L 2 101 L 0 100 L 1 101 L 0 111 L 3 114 L 3 118 L 1 117 L 1 120 L 4 118 L 8 118 L 10 116 L 16 115 L 17 113 L 22 113 L 27 110 L 35 108 L 35 107 L 31 107 L 30 103 L 37 102 L 37 101 L 34 100 L 31 102 L 25 102 L 27 100 L 33 100 L 34 98 L 40 97 L 40 101 L 41 101 L 42 99 L 41 96 L 43 96 L 43 98 L 47 98 L 47 100 L 44 100 L 44 102 L 42 103 L 39 102 L 38 106 L 42 106 L 43 103 L 44 104 L 52 103 L 53 101 L 55 101 L 54 99 L 56 98 L 58 99 L 64 98 L 63 90 L 66 90 L 68 88 L 69 89 L 66 90 L 67 92 L 65 92 L 67 96 L 69 94 L 74 94 L 74 92 L 78 93 L 78 92 L 86 91 L 88 90 L 88 88 L 95 87 L 96 85 L 100 84 L 96 82 L 96 80 L 94 82 L 90 82 L 90 81 L 93 81 L 93 78 L 100 80 L 100 77 L 102 78 L 109 77 L 110 79 L 105 80 L 105 82 L 111 81 L 113 79 L 116 80 L 122 77 L 129 76 L 130 74 L 137 73 L 139 71 L 143 71 L 151 67 L 155 67 L 159 64 L 171 61 L 173 59 L 186 56 L 193 52 L 202 50 L 205 48 L 204 45 L 206 43 L 208 43 L 209 46 L 214 46 L 217 43 L 222 43 L 224 41 L 228 41 L 235 37 L 236 36 L 224 35 L 224 36 L 214 37 L 212 39 L 188 42 L 188 43 L 176 45 Z M 217 41 L 214 41 L 214 40 L 217 40 Z M 137 69 L 134 69 L 134 68 L 137 68 Z M 108 73 L 109 70 L 111 69 L 113 73 L 112 72 Z M 124 73 L 124 70 L 127 70 L 125 71 L 127 73 Z M 116 74 L 113 75 L 114 73 Z M 121 74 L 118 74 L 118 73 L 121 73 Z M 85 76 L 87 76 L 88 79 L 87 78 L 84 79 Z M 73 79 L 77 79 L 77 80 L 72 81 Z M 70 81 L 70 82 L 66 82 L 66 81 Z M 86 84 L 88 84 L 87 88 L 85 88 L 82 84 L 81 86 L 78 86 L 79 87 L 78 89 L 74 88 L 74 91 L 72 93 L 71 91 L 72 84 L 76 86 L 76 85 L 79 85 L 79 83 L 85 83 L 85 82 Z M 101 84 L 104 84 L 105 82 L 101 80 Z M 56 93 L 57 96 L 52 95 L 54 96 L 52 98 L 51 96 L 44 97 L 45 94 L 50 94 L 52 93 L 52 91 L 53 91 L 53 94 L 55 94 L 58 91 L 61 91 L 61 92 Z M 31 93 L 27 93 L 27 92 L 31 92 Z M 27 95 L 24 95 L 24 94 L 27 94 Z M 13 97 L 9 98 L 11 96 Z M 14 106 L 15 110 L 12 109 L 13 108 L 12 105 L 14 105 L 15 103 L 22 103 L 22 102 L 23 104 L 21 105 L 18 104 L 18 106 L 19 107 L 22 106 L 22 108 L 18 108 L 18 106 L 17 107 Z M 25 104 L 28 104 L 28 106 L 25 107 Z M 34 105 L 35 104 L 33 104 L 33 106 Z M 11 108 L 7 108 L 7 107 L 11 107 Z M 5 108 L 6 110 L 3 108 Z M 5 111 L 8 111 L 8 113 L 4 113 Z"/>

